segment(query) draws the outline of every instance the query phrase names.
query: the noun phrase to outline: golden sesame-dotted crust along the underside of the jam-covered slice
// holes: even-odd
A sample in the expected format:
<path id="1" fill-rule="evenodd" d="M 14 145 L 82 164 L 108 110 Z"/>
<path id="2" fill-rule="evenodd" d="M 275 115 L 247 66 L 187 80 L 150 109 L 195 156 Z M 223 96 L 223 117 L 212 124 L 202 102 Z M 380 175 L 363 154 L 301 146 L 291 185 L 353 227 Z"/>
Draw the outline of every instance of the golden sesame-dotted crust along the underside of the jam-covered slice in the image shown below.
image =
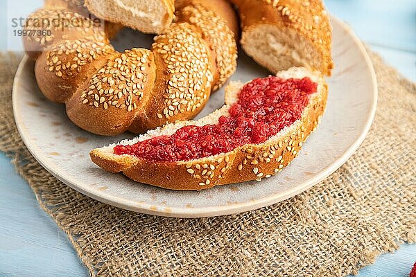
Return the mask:
<path id="1" fill-rule="evenodd" d="M 303 143 L 320 122 L 328 93 L 323 78 L 320 78 L 318 87 L 320 91 L 311 96 L 302 118 L 288 127 L 284 134 L 265 143 L 243 145 L 232 152 L 193 161 L 153 162 L 128 155 L 109 155 L 102 148 L 92 150 L 90 157 L 107 171 L 123 172 L 140 183 L 171 190 L 203 190 L 268 178 L 297 157 Z"/>

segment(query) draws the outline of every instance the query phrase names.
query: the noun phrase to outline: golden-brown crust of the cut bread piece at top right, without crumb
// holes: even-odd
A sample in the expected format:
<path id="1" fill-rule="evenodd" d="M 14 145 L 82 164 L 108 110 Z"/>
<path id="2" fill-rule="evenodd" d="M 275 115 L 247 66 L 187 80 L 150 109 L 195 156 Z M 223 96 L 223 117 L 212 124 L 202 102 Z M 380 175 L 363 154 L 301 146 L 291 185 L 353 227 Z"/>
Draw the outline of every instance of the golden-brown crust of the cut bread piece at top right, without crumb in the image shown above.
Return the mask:
<path id="1" fill-rule="evenodd" d="M 277 26 L 280 30 L 290 29 L 309 42 L 320 56 L 316 70 L 331 75 L 331 24 L 321 0 L 232 0 L 239 8 L 242 45 L 245 48 L 245 34 L 262 24 Z M 255 59 L 257 62 L 261 59 Z"/>

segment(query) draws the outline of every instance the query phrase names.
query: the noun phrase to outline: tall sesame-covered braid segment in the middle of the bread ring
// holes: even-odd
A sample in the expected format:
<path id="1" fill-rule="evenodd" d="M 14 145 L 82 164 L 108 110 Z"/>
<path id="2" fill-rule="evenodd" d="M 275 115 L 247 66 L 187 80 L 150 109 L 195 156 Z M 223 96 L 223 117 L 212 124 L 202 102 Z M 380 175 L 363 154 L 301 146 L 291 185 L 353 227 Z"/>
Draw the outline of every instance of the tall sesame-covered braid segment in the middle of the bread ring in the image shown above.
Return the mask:
<path id="1" fill-rule="evenodd" d="M 175 23 L 169 29 L 172 31 L 155 37 L 152 46 L 160 61 L 155 97 L 149 102 L 146 117 L 147 125 L 153 128 L 198 114 L 213 82 L 211 55 L 202 35 L 186 22 Z"/>

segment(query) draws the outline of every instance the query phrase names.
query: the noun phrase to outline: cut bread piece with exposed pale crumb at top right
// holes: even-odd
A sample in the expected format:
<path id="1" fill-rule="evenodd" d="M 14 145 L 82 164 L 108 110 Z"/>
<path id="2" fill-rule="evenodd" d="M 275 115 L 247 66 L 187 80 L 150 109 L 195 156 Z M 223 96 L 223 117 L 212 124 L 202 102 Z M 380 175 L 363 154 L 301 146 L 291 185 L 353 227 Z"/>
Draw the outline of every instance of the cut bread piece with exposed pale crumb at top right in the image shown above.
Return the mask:
<path id="1" fill-rule="evenodd" d="M 331 75 L 331 24 L 320 0 L 232 0 L 241 46 L 272 73 L 306 66 Z"/>

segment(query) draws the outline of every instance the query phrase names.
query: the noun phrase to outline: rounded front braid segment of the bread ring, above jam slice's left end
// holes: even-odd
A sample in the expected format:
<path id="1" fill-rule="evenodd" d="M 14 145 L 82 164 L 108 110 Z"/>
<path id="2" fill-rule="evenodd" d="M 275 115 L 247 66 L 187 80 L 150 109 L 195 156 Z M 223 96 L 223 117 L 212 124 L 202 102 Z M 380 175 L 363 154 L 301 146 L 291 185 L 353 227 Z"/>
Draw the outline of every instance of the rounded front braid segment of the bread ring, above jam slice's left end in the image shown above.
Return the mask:
<path id="1" fill-rule="evenodd" d="M 117 70 L 123 74 L 114 74 Z M 117 53 L 73 93 L 67 101 L 67 115 L 95 134 L 125 132 L 153 97 L 154 70 L 153 53 L 147 49 Z"/>

